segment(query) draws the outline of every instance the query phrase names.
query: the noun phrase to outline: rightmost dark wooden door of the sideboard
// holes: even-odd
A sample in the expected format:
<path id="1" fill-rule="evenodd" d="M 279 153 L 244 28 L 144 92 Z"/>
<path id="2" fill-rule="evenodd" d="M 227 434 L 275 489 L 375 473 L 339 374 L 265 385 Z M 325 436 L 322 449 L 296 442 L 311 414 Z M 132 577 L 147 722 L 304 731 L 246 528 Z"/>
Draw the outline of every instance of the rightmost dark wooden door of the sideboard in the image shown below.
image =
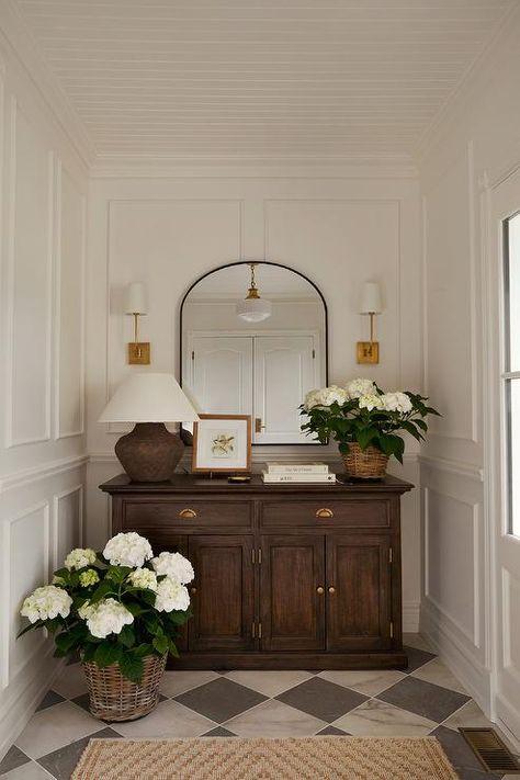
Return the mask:
<path id="1" fill-rule="evenodd" d="M 327 649 L 386 649 L 391 638 L 389 539 L 327 539 Z"/>

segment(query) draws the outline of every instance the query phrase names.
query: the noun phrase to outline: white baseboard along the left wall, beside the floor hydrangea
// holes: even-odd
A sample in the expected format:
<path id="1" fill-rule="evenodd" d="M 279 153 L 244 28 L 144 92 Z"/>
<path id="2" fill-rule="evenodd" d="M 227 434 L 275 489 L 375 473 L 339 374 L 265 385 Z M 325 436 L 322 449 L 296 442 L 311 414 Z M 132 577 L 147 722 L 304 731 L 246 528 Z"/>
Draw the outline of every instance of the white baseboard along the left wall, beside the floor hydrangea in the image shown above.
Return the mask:
<path id="1" fill-rule="evenodd" d="M 49 690 L 54 679 L 60 672 L 64 662 L 53 657 L 54 645 L 39 658 L 39 663 L 31 665 L 34 670 L 22 676 L 22 686 L 11 683 L 2 693 L 0 704 L 0 760 L 9 750 L 22 730 L 31 720 L 36 706 Z M 29 680 L 26 679 L 29 677 Z"/>

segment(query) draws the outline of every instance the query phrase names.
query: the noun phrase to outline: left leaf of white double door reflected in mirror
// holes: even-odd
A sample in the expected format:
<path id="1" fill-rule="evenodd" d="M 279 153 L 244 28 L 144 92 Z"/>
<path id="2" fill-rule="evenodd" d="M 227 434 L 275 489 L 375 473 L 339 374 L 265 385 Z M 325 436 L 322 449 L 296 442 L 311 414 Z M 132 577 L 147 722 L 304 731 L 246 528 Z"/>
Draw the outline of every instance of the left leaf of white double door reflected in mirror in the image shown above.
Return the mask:
<path id="1" fill-rule="evenodd" d="M 252 339 L 195 336 L 190 339 L 188 389 L 200 411 L 252 415 Z"/>

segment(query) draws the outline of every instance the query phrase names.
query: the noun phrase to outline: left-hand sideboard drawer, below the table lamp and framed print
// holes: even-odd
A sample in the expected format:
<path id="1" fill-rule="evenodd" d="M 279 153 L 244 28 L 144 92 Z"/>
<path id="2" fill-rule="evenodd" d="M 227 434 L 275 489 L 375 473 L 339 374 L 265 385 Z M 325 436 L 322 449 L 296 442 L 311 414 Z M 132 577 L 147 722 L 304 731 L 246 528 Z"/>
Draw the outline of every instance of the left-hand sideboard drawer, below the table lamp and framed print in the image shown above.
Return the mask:
<path id="1" fill-rule="evenodd" d="M 251 504 L 248 501 L 123 501 L 123 528 L 160 528 L 176 525 L 240 527 L 251 525 Z"/>

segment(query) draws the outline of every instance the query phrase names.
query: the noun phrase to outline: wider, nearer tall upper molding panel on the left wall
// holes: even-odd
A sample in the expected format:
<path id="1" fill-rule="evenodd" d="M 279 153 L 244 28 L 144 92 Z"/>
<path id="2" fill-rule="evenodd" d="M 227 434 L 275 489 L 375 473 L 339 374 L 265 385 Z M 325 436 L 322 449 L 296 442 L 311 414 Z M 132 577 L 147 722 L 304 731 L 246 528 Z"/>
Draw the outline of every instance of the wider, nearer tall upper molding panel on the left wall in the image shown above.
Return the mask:
<path id="1" fill-rule="evenodd" d="M 42 143 L 36 135 L 31 118 L 25 115 L 18 100 L 11 98 L 11 120 L 10 120 L 10 156 L 9 156 L 9 192 L 10 192 L 10 215 L 8 230 L 10 235 L 8 251 L 8 355 L 7 365 L 7 420 L 5 420 L 5 446 L 13 448 L 22 444 L 34 444 L 45 442 L 50 439 L 50 392 L 52 392 L 52 295 L 53 295 L 53 260 L 54 260 L 54 224 L 55 224 L 55 173 L 54 152 Z M 22 148 L 22 127 L 25 123 L 25 148 Z M 35 139 L 36 145 L 31 149 L 29 139 Z M 36 149 L 39 146 L 39 149 Z M 41 159 L 38 160 L 38 151 Z M 42 159 L 44 158 L 44 159 Z M 31 173 L 31 179 L 24 179 L 22 165 L 27 163 L 26 177 Z M 39 182 L 37 188 L 37 172 L 46 176 L 46 182 Z M 46 174 L 43 169 L 46 169 Z M 23 190 L 22 190 L 23 184 Z M 21 192 L 22 190 L 22 192 Z M 45 190 L 45 194 L 44 194 Z M 32 193 L 32 194 L 30 194 Z M 32 195 L 35 199 L 31 201 Z M 42 201 L 36 200 L 37 195 Z M 30 204 L 32 212 L 24 214 L 21 203 Z M 42 216 L 39 216 L 39 214 Z M 23 226 L 22 219 L 26 217 L 31 225 Z M 39 218 L 42 222 L 38 224 Z M 45 231 L 45 235 L 37 236 L 37 229 Z M 33 238 L 39 238 L 39 246 L 30 245 Z M 24 244 L 25 241 L 25 244 Z M 19 247 L 21 245 L 19 255 Z M 38 264 L 34 263 L 34 257 L 39 259 L 42 268 L 39 276 L 36 273 Z M 42 261 L 41 258 L 45 258 Z M 20 260 L 20 262 L 19 262 Z M 19 271 L 24 272 L 24 276 L 19 278 Z M 16 292 L 22 284 L 26 284 L 20 297 L 25 308 L 22 310 L 24 317 L 18 317 Z M 21 289 L 22 290 L 22 289 Z M 44 291 L 44 294 L 42 292 Z M 42 319 L 37 321 L 33 316 L 36 310 L 36 299 L 44 302 L 44 310 L 41 312 Z M 22 320 L 27 320 L 32 327 L 24 332 Z M 39 342 L 37 339 L 39 338 Z M 41 359 L 39 374 L 35 373 L 34 362 Z M 20 361 L 20 362 L 18 362 Z M 25 361 L 25 363 L 23 362 Z M 20 376 L 23 371 L 30 373 L 30 378 Z M 15 383 L 19 383 L 18 386 Z M 30 395 L 27 396 L 27 387 Z M 26 396 L 26 397 L 25 397 Z M 21 420 L 31 419 L 34 409 L 38 409 L 38 398 L 43 398 L 39 409 L 41 419 L 33 419 L 32 428 L 25 423 L 21 432 L 16 431 Z M 25 404 L 25 406 L 23 406 Z"/>

